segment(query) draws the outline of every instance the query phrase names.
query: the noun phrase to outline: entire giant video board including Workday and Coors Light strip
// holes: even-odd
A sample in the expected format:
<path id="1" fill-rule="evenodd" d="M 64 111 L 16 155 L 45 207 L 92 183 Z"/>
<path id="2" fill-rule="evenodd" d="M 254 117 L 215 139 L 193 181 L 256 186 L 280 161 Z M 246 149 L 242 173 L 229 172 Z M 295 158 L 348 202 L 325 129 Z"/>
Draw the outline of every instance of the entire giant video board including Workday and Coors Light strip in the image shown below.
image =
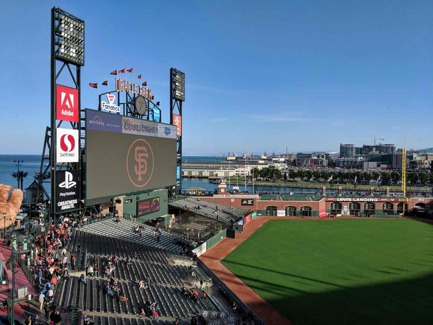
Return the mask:
<path id="1" fill-rule="evenodd" d="M 176 184 L 176 127 L 86 110 L 86 205 Z"/>

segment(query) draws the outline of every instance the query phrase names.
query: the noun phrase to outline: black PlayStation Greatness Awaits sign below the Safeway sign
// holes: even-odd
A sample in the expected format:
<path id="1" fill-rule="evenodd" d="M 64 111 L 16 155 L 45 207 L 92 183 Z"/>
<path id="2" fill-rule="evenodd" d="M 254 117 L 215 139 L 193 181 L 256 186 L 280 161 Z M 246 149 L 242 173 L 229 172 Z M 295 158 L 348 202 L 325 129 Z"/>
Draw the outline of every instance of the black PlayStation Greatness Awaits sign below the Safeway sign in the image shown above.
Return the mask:
<path id="1" fill-rule="evenodd" d="M 71 211 L 80 208 L 80 184 L 78 183 L 78 170 L 58 170 L 57 180 L 57 206 L 56 212 Z"/>

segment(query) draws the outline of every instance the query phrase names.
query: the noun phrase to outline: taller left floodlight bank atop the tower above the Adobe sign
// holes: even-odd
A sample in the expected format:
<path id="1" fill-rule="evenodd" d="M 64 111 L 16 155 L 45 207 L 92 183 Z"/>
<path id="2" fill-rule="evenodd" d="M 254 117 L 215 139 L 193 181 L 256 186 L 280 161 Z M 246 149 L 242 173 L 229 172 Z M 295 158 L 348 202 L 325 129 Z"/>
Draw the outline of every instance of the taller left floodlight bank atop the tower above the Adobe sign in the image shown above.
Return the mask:
<path id="1" fill-rule="evenodd" d="M 84 20 L 55 8 L 54 26 L 55 58 L 84 65 Z"/>

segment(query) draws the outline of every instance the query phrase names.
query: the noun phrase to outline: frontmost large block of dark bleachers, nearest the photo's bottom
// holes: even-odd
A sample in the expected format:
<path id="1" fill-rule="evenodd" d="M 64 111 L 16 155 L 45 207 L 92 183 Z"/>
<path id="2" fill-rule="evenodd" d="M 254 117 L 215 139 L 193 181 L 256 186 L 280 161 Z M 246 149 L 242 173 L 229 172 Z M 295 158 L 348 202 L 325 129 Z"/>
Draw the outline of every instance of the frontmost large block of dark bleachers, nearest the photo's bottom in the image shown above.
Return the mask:
<path id="1" fill-rule="evenodd" d="M 116 292 L 112 297 L 107 295 L 105 284 L 106 280 L 95 278 L 87 278 L 84 284 L 79 277 L 70 276 L 62 281 L 56 301 L 60 306 L 82 306 L 85 311 L 134 315 L 140 313 L 149 298 L 151 302 L 158 302 L 162 317 L 188 318 L 200 309 L 224 310 L 213 296 L 193 302 L 182 295 L 180 287 L 149 284 L 148 289 L 140 289 L 138 283 L 130 281 L 117 282 L 119 293 L 129 298 L 126 303 L 121 303 Z M 200 289 L 197 291 L 203 295 Z"/>

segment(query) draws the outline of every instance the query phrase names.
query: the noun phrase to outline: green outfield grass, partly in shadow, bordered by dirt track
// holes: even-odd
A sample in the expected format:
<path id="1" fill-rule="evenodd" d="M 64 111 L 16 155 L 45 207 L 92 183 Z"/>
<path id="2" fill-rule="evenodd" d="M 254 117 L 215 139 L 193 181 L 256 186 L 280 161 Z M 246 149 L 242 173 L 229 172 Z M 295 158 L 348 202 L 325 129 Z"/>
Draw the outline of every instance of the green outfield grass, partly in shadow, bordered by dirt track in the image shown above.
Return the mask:
<path id="1" fill-rule="evenodd" d="M 422 221 L 271 220 L 222 263 L 293 324 L 433 324 Z"/>

